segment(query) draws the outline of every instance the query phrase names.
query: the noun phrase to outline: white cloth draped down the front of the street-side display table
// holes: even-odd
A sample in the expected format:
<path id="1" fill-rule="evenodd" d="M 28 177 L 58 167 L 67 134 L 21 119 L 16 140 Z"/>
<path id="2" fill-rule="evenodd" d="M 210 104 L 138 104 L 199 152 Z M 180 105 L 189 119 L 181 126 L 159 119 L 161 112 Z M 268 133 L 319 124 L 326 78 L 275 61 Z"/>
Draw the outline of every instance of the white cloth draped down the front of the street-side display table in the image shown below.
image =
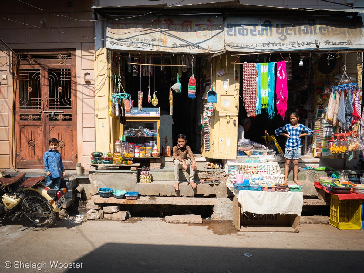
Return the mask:
<path id="1" fill-rule="evenodd" d="M 303 192 L 236 190 L 232 183 L 226 186 L 238 198 L 241 213 L 301 215 Z"/>

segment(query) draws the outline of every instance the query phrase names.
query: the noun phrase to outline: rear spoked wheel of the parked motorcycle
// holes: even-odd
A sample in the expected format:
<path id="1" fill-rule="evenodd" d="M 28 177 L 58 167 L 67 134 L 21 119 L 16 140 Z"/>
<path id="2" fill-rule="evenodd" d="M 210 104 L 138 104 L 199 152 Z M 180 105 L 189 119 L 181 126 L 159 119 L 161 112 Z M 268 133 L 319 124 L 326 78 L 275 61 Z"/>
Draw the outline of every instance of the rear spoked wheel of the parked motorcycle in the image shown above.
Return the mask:
<path id="1" fill-rule="evenodd" d="M 34 192 L 27 192 L 21 204 L 24 212 L 21 218 L 32 223 L 36 227 L 50 227 L 58 219 L 59 213 L 55 212 L 47 199 Z"/>

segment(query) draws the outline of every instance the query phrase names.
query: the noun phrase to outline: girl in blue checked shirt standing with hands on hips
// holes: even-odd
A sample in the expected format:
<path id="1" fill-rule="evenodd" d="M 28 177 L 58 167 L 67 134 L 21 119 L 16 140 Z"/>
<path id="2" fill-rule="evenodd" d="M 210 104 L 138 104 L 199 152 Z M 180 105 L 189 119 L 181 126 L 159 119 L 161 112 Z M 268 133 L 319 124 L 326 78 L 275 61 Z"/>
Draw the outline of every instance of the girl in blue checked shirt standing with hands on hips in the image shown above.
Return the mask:
<path id="1" fill-rule="evenodd" d="M 283 127 L 278 128 L 276 135 L 284 135 L 287 138 L 286 148 L 284 151 L 284 157 L 286 158 L 286 164 L 284 166 L 284 182 L 288 182 L 289 165 L 293 159 L 293 182 L 297 185 L 302 183 L 298 181 L 298 159 L 301 158 L 301 137 L 308 135 L 313 136 L 313 131 L 310 128 L 298 123 L 300 117 L 297 112 L 292 112 L 289 115 L 290 124 L 286 124 Z M 286 132 L 286 133 L 285 133 Z"/>

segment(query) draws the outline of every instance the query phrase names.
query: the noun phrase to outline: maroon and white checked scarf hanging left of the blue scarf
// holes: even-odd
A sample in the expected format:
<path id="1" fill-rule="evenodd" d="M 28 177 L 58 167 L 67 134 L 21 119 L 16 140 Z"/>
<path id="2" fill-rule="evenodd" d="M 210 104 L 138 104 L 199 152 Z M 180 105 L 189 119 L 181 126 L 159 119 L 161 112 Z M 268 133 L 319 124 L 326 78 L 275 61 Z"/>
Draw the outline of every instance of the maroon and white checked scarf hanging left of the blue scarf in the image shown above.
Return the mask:
<path id="1" fill-rule="evenodd" d="M 243 100 L 246 116 L 256 116 L 257 66 L 255 63 L 243 64 Z"/>

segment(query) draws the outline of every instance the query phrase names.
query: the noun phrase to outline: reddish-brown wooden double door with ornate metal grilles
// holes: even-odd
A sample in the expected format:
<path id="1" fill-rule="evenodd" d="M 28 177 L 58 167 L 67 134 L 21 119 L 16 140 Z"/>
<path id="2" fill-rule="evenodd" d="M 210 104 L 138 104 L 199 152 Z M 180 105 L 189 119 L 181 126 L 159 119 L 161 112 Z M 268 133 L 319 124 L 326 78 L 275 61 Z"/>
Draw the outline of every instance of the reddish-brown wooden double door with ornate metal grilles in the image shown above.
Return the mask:
<path id="1" fill-rule="evenodd" d="M 19 52 L 15 65 L 16 167 L 44 169 L 44 152 L 57 138 L 66 169 L 77 162 L 75 51 Z M 16 61 L 15 61 L 16 63 Z"/>

